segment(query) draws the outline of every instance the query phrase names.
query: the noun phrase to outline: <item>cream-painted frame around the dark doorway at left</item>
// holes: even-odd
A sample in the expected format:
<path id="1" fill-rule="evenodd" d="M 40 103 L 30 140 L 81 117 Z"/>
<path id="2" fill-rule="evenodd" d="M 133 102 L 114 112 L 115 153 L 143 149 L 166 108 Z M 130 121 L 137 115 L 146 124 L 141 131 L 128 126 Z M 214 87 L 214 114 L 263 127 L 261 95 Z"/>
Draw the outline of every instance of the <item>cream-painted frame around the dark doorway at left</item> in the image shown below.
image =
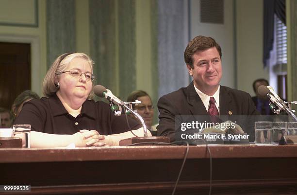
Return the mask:
<path id="1" fill-rule="evenodd" d="M 38 36 L 0 34 L 0 42 L 31 44 L 31 90 L 40 95 L 42 78 L 40 78 L 40 50 Z"/>

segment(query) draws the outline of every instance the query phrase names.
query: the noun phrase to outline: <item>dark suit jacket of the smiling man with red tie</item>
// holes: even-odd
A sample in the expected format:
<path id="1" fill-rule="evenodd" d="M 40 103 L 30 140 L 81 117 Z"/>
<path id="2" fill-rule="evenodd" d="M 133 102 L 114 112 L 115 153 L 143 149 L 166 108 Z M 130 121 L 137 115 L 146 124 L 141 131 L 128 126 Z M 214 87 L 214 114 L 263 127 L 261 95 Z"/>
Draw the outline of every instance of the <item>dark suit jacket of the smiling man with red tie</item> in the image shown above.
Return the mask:
<path id="1" fill-rule="evenodd" d="M 159 136 L 168 136 L 171 141 L 175 140 L 175 116 L 177 115 L 204 115 L 208 112 L 202 100 L 197 94 L 193 82 L 186 88 L 181 88 L 162 96 L 158 101 Z M 258 111 L 247 92 L 220 86 L 220 116 L 226 115 L 258 115 Z M 234 118 L 229 119 L 234 122 Z M 247 132 L 250 141 L 254 141 L 254 130 Z"/>

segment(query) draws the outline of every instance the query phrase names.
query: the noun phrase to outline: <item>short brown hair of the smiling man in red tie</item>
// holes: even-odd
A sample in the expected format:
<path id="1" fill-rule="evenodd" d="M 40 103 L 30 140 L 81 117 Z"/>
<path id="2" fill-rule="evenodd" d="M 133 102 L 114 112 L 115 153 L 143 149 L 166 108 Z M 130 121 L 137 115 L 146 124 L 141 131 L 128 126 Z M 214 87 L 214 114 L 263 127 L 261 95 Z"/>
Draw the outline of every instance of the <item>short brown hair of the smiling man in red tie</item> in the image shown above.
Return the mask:
<path id="1" fill-rule="evenodd" d="M 210 36 L 196 36 L 190 42 L 188 43 L 186 49 L 184 50 L 184 62 L 187 65 L 190 65 L 192 68 L 193 66 L 193 60 L 192 57 L 194 53 L 197 51 L 205 51 L 209 48 L 215 47 L 218 53 L 220 54 L 220 58 L 222 58 L 222 50 L 219 44 L 215 42 L 215 40 Z"/>

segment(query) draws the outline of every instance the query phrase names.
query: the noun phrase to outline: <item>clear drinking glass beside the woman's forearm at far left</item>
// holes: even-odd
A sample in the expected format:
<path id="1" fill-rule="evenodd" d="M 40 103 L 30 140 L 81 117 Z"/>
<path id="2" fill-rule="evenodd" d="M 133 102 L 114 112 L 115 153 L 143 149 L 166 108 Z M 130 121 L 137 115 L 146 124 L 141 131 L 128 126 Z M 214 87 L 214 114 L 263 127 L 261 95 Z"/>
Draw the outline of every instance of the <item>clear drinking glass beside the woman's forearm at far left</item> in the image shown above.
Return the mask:
<path id="1" fill-rule="evenodd" d="M 13 131 L 17 137 L 20 137 L 23 140 L 23 147 L 30 148 L 30 124 L 14 124 Z"/>

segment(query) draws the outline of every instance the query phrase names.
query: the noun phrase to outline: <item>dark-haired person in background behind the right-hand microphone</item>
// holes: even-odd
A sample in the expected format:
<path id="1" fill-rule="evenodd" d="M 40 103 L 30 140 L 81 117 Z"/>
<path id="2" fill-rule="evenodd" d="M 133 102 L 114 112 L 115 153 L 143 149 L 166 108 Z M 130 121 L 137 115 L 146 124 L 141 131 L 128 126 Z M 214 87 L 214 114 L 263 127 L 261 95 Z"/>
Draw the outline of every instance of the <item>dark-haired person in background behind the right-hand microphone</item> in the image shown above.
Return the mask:
<path id="1" fill-rule="evenodd" d="M 258 93 L 258 88 L 261 86 L 268 86 L 269 83 L 266 79 L 260 78 L 253 82 L 253 89 L 256 96 L 252 97 L 252 100 L 256 106 L 256 109 L 261 113 L 261 115 L 274 115 L 274 113 L 269 108 L 269 100 L 265 97 L 263 98 Z"/>

